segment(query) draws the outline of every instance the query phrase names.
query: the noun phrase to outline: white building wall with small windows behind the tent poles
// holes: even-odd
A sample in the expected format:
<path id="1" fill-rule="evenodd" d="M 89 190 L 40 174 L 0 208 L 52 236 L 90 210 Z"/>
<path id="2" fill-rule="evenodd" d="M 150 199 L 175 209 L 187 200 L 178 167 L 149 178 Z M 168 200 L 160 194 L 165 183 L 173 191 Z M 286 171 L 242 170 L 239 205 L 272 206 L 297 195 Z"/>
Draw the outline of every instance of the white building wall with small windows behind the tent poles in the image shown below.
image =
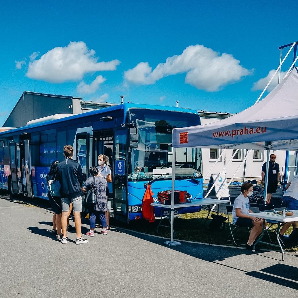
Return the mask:
<path id="1" fill-rule="evenodd" d="M 201 124 L 208 124 L 212 122 L 220 121 L 220 119 L 211 119 L 211 118 L 202 118 L 201 117 Z M 227 149 L 225 153 L 222 155 L 221 161 L 218 161 L 218 163 L 215 165 L 215 167 L 212 169 L 211 173 L 208 174 L 209 170 L 212 168 L 212 166 L 215 164 L 215 160 L 210 160 L 210 149 L 202 149 L 202 157 L 203 157 L 203 177 L 206 179 L 205 182 L 209 181 L 211 174 L 218 174 L 221 173 L 224 169 L 224 166 L 229 162 L 229 160 L 232 158 L 232 149 Z M 241 160 L 244 158 L 245 150 L 242 150 L 241 152 Z M 282 172 L 282 167 L 285 166 L 285 160 L 286 160 L 286 151 L 273 151 L 270 150 L 270 154 L 274 153 L 276 155 L 276 162 L 279 164 L 280 172 Z M 290 151 L 290 156 L 295 154 L 295 151 Z M 247 179 L 256 179 L 261 180 L 261 168 L 263 163 L 266 161 L 267 158 L 267 151 L 264 150 L 262 157 L 260 160 L 254 160 L 253 159 L 253 152 L 250 153 L 250 155 L 247 158 L 246 162 L 246 169 L 245 169 L 245 179 L 244 181 L 247 181 Z M 231 161 L 229 165 L 227 166 L 227 169 L 225 170 L 225 174 L 227 176 L 227 179 L 230 179 L 236 169 L 241 164 L 241 161 Z M 289 164 L 290 165 L 290 164 Z M 241 181 L 243 179 L 243 169 L 244 169 L 244 163 L 239 168 L 238 172 L 236 173 L 236 176 L 233 180 L 235 181 Z M 294 174 L 293 168 L 289 169 L 288 176 L 291 177 Z M 208 174 L 208 177 L 205 177 L 205 175 Z M 288 179 L 289 180 L 289 179 Z"/>

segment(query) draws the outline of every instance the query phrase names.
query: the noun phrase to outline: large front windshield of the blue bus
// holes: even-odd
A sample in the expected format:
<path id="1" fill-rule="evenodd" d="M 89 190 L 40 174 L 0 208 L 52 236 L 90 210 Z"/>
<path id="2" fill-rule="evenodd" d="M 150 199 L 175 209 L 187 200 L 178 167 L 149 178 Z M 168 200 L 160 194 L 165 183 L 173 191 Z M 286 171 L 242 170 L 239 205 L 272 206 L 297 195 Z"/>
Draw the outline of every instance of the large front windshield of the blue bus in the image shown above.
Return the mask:
<path id="1" fill-rule="evenodd" d="M 137 147 L 130 148 L 128 179 L 151 180 L 172 177 L 172 130 L 200 124 L 197 114 L 130 109 L 126 121 L 137 127 Z M 176 150 L 175 176 L 201 176 L 201 149 Z"/>

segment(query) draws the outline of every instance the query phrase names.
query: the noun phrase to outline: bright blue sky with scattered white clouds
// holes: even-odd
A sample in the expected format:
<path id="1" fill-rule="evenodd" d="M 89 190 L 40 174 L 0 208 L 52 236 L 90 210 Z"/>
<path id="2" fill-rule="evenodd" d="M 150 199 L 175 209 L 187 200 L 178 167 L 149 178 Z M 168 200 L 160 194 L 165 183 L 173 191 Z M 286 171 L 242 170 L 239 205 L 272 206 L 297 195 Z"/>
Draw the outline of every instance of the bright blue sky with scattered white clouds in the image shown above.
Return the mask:
<path id="1" fill-rule="evenodd" d="M 240 112 L 278 67 L 278 47 L 298 40 L 297 6 L 294 0 L 2 1 L 0 126 L 25 90 Z M 293 52 L 282 71 L 292 60 Z"/>

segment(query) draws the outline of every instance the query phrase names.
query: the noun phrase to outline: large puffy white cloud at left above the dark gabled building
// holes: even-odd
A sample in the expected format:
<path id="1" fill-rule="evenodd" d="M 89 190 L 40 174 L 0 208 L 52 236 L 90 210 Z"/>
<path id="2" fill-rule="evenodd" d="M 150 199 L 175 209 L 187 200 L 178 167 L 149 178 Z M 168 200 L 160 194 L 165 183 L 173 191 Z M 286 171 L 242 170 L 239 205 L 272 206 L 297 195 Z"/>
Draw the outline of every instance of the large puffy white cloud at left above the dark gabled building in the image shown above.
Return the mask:
<path id="1" fill-rule="evenodd" d="M 35 55 L 36 52 L 30 57 Z M 85 73 L 115 70 L 119 63 L 119 60 L 98 62 L 95 51 L 89 50 L 83 41 L 71 41 L 67 47 L 53 48 L 40 59 L 30 61 L 26 76 L 51 83 L 63 83 L 81 80 Z"/>

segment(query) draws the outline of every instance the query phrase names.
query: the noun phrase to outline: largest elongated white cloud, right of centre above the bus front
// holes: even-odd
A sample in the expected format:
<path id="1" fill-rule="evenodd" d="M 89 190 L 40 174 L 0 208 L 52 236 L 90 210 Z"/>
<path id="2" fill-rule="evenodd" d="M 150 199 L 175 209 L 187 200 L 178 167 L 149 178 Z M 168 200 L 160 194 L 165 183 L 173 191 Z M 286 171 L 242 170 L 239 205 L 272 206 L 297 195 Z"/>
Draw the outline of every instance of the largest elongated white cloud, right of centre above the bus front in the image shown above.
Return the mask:
<path id="1" fill-rule="evenodd" d="M 124 73 L 124 78 L 140 85 L 154 84 L 157 80 L 177 73 L 186 73 L 185 82 L 197 89 L 217 91 L 253 73 L 241 66 L 232 55 L 218 52 L 197 44 L 187 47 L 160 63 L 152 71 L 148 62 L 140 62 Z"/>

